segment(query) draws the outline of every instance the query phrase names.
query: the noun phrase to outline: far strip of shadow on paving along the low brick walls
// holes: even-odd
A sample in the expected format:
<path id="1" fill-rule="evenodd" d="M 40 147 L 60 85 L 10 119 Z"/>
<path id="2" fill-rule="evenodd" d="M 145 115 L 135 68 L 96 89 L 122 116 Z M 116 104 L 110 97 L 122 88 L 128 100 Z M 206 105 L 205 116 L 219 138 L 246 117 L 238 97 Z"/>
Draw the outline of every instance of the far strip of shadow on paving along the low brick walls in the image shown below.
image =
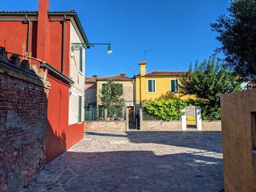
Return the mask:
<path id="1" fill-rule="evenodd" d="M 134 143 L 156 143 L 177 147 L 189 147 L 222 153 L 222 133 L 219 131 L 127 131 L 125 134 L 113 132 L 86 132 L 104 137 L 124 137 Z"/>

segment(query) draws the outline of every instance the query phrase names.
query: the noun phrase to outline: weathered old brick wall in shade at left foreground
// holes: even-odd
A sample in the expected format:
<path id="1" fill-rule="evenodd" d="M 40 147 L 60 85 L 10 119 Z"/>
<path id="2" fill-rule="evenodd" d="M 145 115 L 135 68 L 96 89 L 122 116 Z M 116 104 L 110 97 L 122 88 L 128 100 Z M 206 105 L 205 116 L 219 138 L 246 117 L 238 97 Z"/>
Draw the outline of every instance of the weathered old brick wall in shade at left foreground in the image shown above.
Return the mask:
<path id="1" fill-rule="evenodd" d="M 19 191 L 45 166 L 50 84 L 27 62 L 10 64 L 3 52 L 0 47 L 0 191 Z"/>

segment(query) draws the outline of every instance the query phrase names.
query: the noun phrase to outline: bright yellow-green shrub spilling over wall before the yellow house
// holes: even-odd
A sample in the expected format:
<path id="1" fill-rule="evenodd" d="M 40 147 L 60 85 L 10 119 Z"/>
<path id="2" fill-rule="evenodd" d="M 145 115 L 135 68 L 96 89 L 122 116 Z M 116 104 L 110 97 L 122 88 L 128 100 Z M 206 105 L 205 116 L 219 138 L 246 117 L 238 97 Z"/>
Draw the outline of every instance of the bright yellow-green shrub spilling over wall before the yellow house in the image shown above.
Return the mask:
<path id="1" fill-rule="evenodd" d="M 187 106 L 181 99 L 161 99 L 143 104 L 143 111 L 149 116 L 158 117 L 160 120 L 180 120 L 181 110 Z"/>

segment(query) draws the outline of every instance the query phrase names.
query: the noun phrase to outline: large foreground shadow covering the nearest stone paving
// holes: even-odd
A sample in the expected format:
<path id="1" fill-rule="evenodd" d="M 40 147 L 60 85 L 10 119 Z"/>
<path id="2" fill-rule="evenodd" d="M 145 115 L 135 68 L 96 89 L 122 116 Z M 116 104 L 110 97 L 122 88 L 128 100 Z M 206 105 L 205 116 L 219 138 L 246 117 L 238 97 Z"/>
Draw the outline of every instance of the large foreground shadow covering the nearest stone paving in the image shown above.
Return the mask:
<path id="1" fill-rule="evenodd" d="M 27 191 L 219 191 L 223 185 L 222 159 L 197 153 L 68 151 Z"/>

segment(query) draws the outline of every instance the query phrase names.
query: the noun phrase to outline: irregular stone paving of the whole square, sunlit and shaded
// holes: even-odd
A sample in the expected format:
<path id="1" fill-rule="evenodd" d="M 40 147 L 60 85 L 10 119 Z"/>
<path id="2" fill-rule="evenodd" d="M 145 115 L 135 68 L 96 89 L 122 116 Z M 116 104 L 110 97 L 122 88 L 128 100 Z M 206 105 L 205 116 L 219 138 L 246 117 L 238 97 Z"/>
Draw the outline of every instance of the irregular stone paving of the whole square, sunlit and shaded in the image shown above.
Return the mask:
<path id="1" fill-rule="evenodd" d="M 221 191 L 220 132 L 88 132 L 26 191 Z"/>

